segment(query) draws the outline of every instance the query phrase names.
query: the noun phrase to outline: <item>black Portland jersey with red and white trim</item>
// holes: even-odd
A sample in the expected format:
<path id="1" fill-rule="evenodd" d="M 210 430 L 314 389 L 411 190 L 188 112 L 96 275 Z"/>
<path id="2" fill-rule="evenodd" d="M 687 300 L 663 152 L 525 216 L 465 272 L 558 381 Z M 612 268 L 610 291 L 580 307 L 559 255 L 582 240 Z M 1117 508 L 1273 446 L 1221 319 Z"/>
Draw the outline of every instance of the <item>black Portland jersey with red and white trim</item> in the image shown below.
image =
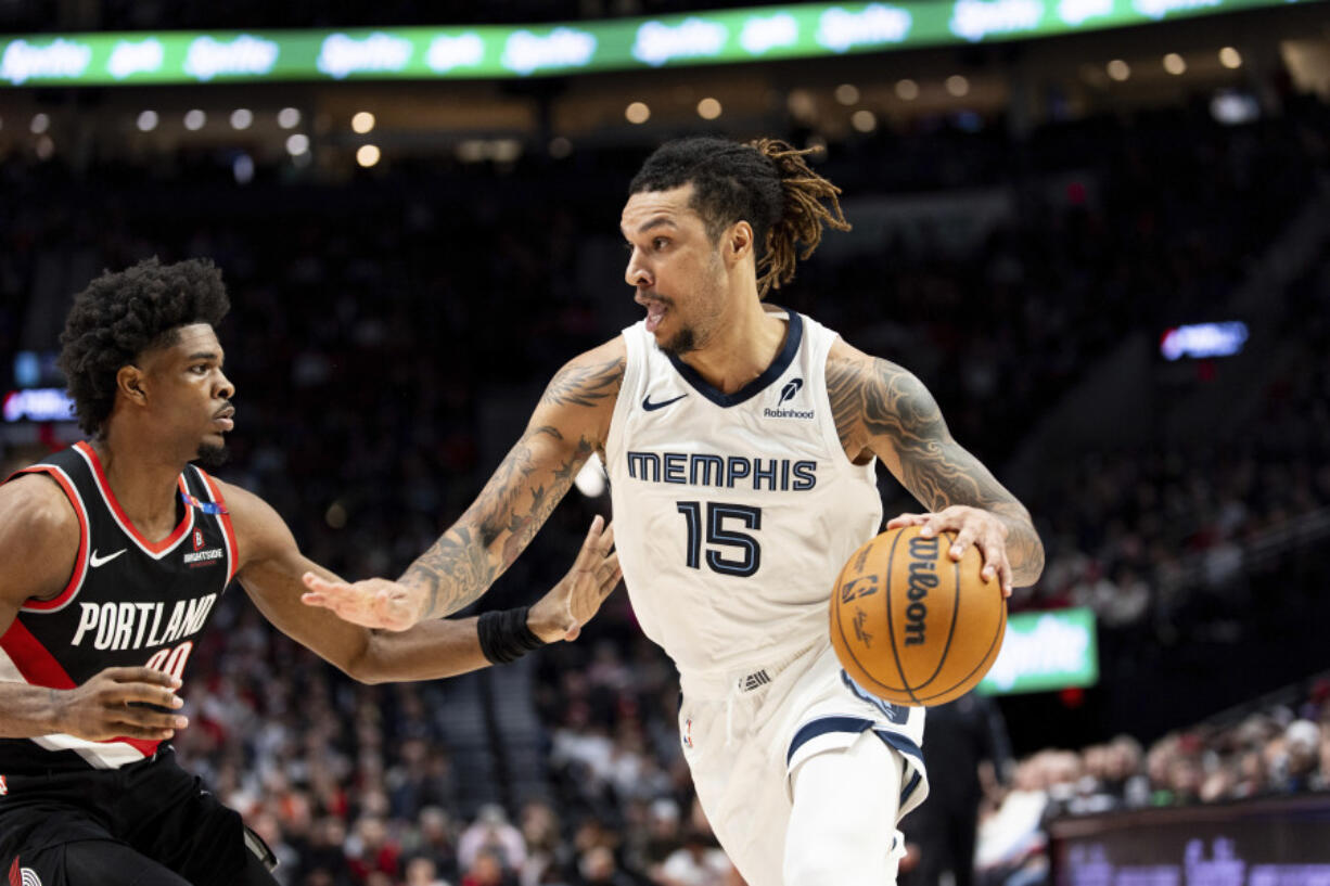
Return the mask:
<path id="1" fill-rule="evenodd" d="M 72 689 L 120 666 L 182 677 L 235 569 L 235 533 L 217 482 L 188 466 L 177 480 L 184 517 L 154 543 L 129 521 L 86 443 L 19 474 L 45 474 L 65 491 L 78 515 L 78 553 L 60 595 L 28 600 L 0 637 L 0 680 Z M 65 734 L 4 738 L 0 773 L 117 769 L 152 757 L 158 744 Z"/>

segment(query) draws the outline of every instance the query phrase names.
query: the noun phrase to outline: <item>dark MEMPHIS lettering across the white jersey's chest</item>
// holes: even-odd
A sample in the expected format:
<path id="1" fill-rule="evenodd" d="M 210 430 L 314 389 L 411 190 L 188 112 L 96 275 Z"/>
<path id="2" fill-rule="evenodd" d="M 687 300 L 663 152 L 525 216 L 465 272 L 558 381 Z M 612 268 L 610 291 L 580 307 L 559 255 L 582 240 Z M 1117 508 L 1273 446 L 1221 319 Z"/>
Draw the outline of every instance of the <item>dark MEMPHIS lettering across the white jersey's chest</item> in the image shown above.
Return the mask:
<path id="1" fill-rule="evenodd" d="M 818 484 L 817 471 L 818 463 L 811 460 L 750 459 L 697 452 L 628 452 L 628 476 L 645 483 L 806 492 Z"/>

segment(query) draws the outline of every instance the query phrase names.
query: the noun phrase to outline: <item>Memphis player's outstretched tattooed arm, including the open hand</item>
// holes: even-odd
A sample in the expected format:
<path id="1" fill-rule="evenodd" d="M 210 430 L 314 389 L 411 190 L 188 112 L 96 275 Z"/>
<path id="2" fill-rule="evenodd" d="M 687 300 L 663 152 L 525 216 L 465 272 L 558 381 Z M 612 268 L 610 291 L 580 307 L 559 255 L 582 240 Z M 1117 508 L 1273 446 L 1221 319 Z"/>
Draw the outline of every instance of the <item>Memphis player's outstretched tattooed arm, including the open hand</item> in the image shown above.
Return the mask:
<path id="1" fill-rule="evenodd" d="M 315 593 L 306 603 L 400 631 L 479 599 L 531 543 L 591 454 L 604 448 L 625 361 L 624 341 L 614 338 L 559 370 L 476 500 L 398 581 L 340 585 L 331 595 L 307 581 Z"/>

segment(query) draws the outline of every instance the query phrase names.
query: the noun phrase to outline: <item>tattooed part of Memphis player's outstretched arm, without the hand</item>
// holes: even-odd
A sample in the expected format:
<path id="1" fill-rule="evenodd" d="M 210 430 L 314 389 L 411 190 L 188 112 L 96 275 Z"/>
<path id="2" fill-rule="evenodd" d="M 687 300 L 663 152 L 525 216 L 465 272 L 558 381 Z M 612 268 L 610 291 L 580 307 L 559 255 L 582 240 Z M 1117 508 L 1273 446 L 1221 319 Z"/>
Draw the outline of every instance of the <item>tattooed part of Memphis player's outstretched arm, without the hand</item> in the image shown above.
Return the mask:
<path id="1" fill-rule="evenodd" d="M 600 446 L 595 434 L 569 428 L 591 426 L 579 420 L 585 418 L 580 412 L 613 403 L 622 376 L 622 358 L 569 363 L 555 375 L 531 426 L 476 500 L 402 575 L 403 584 L 428 592 L 426 617 L 443 617 L 477 600 L 525 549 Z"/>

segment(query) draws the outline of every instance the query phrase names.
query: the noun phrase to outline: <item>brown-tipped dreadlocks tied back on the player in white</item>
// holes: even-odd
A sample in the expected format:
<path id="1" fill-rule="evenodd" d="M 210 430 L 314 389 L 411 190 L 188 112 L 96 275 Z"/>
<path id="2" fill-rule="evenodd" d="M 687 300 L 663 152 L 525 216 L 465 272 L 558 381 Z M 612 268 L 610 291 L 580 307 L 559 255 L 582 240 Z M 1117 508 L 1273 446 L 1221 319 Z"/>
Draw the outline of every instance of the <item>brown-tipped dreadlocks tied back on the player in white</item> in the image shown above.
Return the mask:
<path id="1" fill-rule="evenodd" d="M 795 263 L 813 254 L 825 227 L 850 230 L 841 212 L 841 189 L 805 160 L 814 150 L 777 138 L 747 144 L 706 136 L 678 138 L 648 157 L 628 193 L 692 182 L 692 209 L 702 217 L 713 243 L 737 221 L 751 225 L 759 246 L 757 291 L 766 298 L 794 279 Z"/>

